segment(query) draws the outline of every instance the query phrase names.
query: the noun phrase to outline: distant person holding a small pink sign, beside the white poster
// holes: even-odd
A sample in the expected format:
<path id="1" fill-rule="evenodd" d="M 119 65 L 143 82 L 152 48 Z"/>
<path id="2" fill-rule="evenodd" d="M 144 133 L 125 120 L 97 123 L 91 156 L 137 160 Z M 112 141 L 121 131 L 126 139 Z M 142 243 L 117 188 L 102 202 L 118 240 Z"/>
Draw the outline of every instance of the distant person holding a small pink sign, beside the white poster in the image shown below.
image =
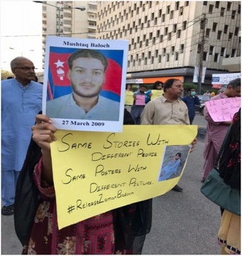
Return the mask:
<path id="1" fill-rule="evenodd" d="M 135 121 L 135 124 L 140 124 L 140 116 L 144 109 L 144 106 L 146 106 L 146 86 L 144 84 L 141 84 L 139 87 L 138 92 L 133 93 L 133 106 L 131 107 L 131 115 L 133 117 L 133 120 Z"/>

